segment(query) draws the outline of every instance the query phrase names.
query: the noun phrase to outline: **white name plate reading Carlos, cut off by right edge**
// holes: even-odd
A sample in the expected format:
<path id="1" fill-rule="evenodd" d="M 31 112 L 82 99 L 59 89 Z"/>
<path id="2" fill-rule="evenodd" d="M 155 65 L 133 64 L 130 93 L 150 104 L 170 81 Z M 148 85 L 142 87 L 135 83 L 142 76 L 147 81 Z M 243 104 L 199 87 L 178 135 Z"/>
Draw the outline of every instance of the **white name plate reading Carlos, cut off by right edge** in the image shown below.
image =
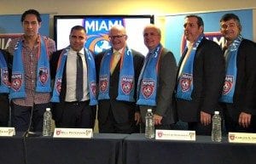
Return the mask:
<path id="1" fill-rule="evenodd" d="M 229 133 L 229 142 L 256 144 L 256 133 Z"/>

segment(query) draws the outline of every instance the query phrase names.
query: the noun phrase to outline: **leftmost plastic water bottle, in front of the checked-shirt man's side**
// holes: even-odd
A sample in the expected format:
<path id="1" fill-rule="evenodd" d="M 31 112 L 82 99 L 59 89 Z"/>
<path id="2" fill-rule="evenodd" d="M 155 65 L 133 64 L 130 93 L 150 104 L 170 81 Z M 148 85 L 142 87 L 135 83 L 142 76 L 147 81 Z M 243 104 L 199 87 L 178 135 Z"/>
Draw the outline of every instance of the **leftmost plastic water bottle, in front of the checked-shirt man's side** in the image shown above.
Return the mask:
<path id="1" fill-rule="evenodd" d="M 52 134 L 52 114 L 49 108 L 44 112 L 43 136 L 51 136 Z"/>

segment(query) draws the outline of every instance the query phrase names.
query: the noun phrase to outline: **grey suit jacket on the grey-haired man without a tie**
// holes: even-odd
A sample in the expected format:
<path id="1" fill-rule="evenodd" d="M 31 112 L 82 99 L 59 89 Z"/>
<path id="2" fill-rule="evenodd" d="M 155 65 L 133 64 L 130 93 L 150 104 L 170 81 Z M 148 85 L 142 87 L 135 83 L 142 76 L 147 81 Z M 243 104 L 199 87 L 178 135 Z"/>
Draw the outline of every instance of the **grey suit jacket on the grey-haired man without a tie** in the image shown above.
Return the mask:
<path id="1" fill-rule="evenodd" d="M 177 122 L 177 110 L 174 107 L 173 96 L 177 76 L 177 64 L 171 51 L 163 48 L 158 64 L 158 79 L 156 90 L 156 106 L 141 105 L 143 122 L 148 108 L 154 114 L 163 116 L 161 123 L 168 125 Z"/>

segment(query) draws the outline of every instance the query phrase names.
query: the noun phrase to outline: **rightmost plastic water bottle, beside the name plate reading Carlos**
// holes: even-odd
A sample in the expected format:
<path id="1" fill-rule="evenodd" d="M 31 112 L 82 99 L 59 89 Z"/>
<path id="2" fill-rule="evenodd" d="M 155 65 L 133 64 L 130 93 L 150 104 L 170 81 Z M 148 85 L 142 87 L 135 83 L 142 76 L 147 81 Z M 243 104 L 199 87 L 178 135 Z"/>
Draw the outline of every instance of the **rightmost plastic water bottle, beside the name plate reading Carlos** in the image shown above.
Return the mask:
<path id="1" fill-rule="evenodd" d="M 214 111 L 212 116 L 212 141 L 221 142 L 221 117 L 219 111 Z"/>

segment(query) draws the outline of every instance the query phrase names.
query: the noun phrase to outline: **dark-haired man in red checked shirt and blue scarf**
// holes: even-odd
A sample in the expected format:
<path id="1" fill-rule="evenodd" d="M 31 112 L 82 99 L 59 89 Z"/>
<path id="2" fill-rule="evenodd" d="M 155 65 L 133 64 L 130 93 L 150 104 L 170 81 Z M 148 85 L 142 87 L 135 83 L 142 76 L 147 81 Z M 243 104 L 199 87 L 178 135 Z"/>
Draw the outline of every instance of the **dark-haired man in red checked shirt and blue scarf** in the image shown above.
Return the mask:
<path id="1" fill-rule="evenodd" d="M 29 130 L 42 131 L 44 111 L 50 107 L 49 58 L 55 52 L 55 42 L 38 33 L 42 20 L 37 10 L 27 10 L 20 20 L 24 35 L 9 42 L 9 53 L 14 56 L 11 121 L 17 131 L 26 131 L 30 122 Z"/>

